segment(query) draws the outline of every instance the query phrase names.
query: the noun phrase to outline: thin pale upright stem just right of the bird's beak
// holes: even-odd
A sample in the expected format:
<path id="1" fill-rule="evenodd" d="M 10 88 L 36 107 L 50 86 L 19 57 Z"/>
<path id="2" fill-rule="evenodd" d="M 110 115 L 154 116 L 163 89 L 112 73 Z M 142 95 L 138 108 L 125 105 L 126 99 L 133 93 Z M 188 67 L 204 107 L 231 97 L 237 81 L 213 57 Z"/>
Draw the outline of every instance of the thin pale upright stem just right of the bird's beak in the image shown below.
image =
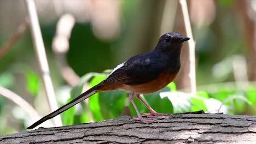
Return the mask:
<path id="1" fill-rule="evenodd" d="M 182 7 L 182 14 L 184 18 L 185 23 L 185 31 L 190 38 L 188 41 L 189 44 L 189 77 L 190 77 L 190 87 L 191 87 L 191 93 L 196 93 L 196 73 L 195 73 L 195 41 L 193 38 L 190 20 L 189 20 L 189 13 L 188 13 L 188 6 L 186 0 L 180 0 L 179 3 L 181 3 Z"/>

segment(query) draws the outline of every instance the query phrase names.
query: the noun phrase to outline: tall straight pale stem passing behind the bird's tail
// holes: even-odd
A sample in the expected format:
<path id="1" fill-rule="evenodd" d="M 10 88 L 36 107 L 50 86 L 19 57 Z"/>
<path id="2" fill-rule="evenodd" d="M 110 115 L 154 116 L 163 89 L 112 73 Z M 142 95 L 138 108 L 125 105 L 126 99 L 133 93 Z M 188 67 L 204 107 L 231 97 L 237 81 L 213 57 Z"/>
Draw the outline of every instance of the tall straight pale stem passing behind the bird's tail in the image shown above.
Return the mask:
<path id="1" fill-rule="evenodd" d="M 58 106 L 57 106 L 57 101 L 54 93 L 53 82 L 51 81 L 51 77 L 50 77 L 50 70 L 49 70 L 49 65 L 46 58 L 42 33 L 39 26 L 36 4 L 34 3 L 33 0 L 26 0 L 25 2 L 27 6 L 27 11 L 30 17 L 31 33 L 33 37 L 34 48 L 36 49 L 36 53 L 37 53 L 37 59 L 38 59 L 39 68 L 41 72 L 40 74 L 43 79 L 43 85 L 44 85 L 46 96 L 48 98 L 50 110 L 53 112 L 58 108 Z M 56 126 L 61 126 L 62 125 L 61 117 L 56 116 L 54 118 L 54 123 Z"/>

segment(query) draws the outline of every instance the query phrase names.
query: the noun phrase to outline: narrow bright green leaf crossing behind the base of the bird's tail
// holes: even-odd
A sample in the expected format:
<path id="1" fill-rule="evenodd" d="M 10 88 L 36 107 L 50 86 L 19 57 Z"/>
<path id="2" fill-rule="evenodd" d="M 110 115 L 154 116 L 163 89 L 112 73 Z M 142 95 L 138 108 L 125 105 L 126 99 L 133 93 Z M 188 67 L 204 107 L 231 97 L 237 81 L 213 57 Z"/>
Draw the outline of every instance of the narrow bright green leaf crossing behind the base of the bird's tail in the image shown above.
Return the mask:
<path id="1" fill-rule="evenodd" d="M 106 78 L 106 75 L 98 75 L 95 76 L 94 79 L 91 80 L 90 86 L 93 87 L 103 81 Z M 89 98 L 89 108 L 94 117 L 94 121 L 103 121 L 104 118 L 101 114 L 101 106 L 100 106 L 100 94 L 96 93 L 92 97 Z"/>

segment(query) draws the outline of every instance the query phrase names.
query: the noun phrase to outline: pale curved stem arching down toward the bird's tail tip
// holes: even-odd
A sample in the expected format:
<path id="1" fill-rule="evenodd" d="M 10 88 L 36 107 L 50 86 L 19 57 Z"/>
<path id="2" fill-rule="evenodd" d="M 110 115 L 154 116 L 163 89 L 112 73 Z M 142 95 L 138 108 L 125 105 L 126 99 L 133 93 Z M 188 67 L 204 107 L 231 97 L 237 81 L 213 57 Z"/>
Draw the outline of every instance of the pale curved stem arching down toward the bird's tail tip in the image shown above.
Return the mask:
<path id="1" fill-rule="evenodd" d="M 22 99 L 18 94 L 0 86 L 0 95 L 3 95 L 5 98 L 19 105 L 23 110 L 27 112 L 33 122 L 36 122 L 40 118 L 37 111 L 34 110 L 34 108 L 29 103 L 27 103 L 26 100 Z"/>

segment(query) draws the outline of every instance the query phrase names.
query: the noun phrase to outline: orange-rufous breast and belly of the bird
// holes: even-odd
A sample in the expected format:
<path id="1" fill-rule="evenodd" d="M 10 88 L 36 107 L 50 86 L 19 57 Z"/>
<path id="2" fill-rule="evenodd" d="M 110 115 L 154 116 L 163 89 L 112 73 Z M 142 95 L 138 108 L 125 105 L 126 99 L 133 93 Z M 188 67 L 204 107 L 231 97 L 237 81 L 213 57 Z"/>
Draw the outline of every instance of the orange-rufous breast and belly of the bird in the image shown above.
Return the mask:
<path id="1" fill-rule="evenodd" d="M 153 93 L 156 91 L 165 88 L 170 82 L 174 80 L 177 73 L 175 74 L 168 74 L 166 72 L 160 74 L 160 76 L 150 82 L 143 83 L 141 85 L 125 85 L 125 84 L 105 84 L 102 87 L 98 88 L 98 92 L 102 91 L 111 91 L 115 89 L 122 89 L 126 92 L 134 92 L 136 94 L 147 94 Z"/>

